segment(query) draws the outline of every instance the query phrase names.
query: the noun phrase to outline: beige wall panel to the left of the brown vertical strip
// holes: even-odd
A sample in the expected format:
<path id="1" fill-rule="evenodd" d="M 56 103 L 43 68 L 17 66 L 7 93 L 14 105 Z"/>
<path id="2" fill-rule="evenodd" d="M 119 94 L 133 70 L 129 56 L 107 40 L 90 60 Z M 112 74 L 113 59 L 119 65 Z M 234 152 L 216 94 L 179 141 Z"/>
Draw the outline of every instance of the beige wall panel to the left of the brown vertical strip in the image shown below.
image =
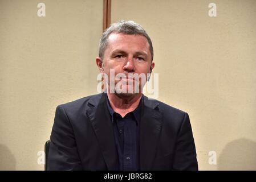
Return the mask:
<path id="1" fill-rule="evenodd" d="M 42 170 L 56 106 L 96 92 L 102 12 L 101 0 L 0 0 L 0 169 Z"/>

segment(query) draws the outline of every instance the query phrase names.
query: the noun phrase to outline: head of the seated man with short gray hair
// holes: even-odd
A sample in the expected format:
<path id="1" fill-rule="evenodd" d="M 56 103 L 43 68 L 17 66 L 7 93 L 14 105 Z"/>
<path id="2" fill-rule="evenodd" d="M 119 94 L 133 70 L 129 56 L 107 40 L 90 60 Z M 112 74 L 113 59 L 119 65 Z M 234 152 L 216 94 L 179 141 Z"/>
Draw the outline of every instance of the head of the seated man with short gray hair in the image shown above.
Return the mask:
<path id="1" fill-rule="evenodd" d="M 114 71 L 115 76 L 119 73 L 126 76 L 126 78 L 115 80 L 115 86 L 121 81 L 122 89 L 132 88 L 134 91 L 135 83 L 137 83 L 141 92 L 145 81 L 136 80 L 130 75 L 147 77 L 147 74 L 151 73 L 155 67 L 151 39 L 144 28 L 133 21 L 122 20 L 114 23 L 101 37 L 96 64 L 100 72 L 108 76 L 108 85 L 110 72 Z"/>

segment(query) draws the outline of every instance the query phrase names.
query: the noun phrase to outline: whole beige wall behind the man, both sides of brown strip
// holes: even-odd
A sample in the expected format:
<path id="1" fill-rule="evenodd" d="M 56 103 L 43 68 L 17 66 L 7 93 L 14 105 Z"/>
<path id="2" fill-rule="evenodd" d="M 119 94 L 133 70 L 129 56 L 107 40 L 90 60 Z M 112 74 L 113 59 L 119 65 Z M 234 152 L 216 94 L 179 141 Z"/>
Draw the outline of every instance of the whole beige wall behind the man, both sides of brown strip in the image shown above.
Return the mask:
<path id="1" fill-rule="evenodd" d="M 255 5 L 112 0 L 112 22 L 151 36 L 159 100 L 189 113 L 202 170 L 256 170 Z M 0 169 L 42 170 L 56 106 L 96 93 L 102 10 L 101 0 L 0 0 Z"/>

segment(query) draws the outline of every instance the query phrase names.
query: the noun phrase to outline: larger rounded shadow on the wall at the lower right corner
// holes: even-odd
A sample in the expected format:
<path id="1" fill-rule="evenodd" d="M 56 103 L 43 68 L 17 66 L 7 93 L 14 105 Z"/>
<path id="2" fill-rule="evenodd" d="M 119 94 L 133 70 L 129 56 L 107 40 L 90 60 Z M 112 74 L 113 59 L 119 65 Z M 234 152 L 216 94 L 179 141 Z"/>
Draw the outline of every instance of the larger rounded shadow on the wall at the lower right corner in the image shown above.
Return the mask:
<path id="1" fill-rule="evenodd" d="M 241 138 L 227 143 L 218 159 L 218 170 L 256 170 L 256 142 Z"/>

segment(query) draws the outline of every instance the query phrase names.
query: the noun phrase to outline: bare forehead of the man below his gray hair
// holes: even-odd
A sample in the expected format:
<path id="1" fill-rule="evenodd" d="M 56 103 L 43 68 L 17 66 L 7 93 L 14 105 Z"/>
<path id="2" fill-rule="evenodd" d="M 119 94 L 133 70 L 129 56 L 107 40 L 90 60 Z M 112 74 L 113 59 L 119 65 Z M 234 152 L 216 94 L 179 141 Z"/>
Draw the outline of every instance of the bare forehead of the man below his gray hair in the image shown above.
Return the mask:
<path id="1" fill-rule="evenodd" d="M 147 38 L 145 38 L 143 35 L 112 33 L 108 37 L 108 48 L 111 50 L 133 48 L 149 52 L 149 43 Z"/>

